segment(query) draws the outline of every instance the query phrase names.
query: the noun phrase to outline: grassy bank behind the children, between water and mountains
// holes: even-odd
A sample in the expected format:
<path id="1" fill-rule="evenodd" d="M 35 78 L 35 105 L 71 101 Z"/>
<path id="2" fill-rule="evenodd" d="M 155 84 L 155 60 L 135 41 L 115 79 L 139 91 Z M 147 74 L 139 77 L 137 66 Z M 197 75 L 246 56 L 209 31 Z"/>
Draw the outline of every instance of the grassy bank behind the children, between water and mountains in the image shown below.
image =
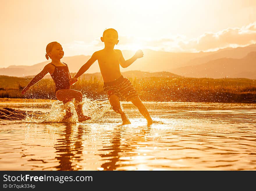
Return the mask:
<path id="1" fill-rule="evenodd" d="M 1 98 L 56 99 L 54 82 L 44 78 L 28 90 L 21 90 L 32 78 L 0 76 Z M 246 78 L 129 78 L 142 101 L 256 102 L 256 81 Z M 102 78 L 83 78 L 72 86 L 90 99 L 106 98 Z"/>

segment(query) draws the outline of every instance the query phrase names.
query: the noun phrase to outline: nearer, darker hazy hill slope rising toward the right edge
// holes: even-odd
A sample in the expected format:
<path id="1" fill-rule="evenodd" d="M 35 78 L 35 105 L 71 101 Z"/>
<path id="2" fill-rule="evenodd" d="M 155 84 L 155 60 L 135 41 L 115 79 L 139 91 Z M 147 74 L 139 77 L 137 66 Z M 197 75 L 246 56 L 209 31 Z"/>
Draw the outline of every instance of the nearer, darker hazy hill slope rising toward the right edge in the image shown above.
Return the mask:
<path id="1" fill-rule="evenodd" d="M 193 78 L 248 78 L 256 79 L 256 51 L 247 56 L 220 58 L 207 63 L 172 70 L 175 74 Z"/>

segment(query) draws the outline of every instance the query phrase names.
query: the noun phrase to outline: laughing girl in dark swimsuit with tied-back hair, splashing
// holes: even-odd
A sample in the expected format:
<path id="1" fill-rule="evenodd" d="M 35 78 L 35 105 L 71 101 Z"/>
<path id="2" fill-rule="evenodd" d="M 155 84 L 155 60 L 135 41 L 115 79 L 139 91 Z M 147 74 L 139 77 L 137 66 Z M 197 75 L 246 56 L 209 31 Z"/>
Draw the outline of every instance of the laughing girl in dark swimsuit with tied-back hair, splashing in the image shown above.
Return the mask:
<path id="1" fill-rule="evenodd" d="M 45 57 L 48 60 L 51 58 L 51 63 L 47 64 L 44 69 L 37 74 L 29 84 L 22 90 L 24 94 L 31 86 L 40 81 L 48 72 L 51 74 L 51 78 L 55 83 L 55 95 L 59 101 L 63 104 L 75 99 L 79 103 L 76 104 L 76 111 L 78 115 L 78 121 L 86 121 L 91 119 L 88 116 L 83 115 L 82 111 L 82 93 L 77 90 L 70 89 L 70 72 L 66 63 L 61 62 L 64 52 L 62 46 L 58 42 L 51 42 L 47 44 Z M 67 112 L 65 117 L 71 117 L 72 113 Z"/>

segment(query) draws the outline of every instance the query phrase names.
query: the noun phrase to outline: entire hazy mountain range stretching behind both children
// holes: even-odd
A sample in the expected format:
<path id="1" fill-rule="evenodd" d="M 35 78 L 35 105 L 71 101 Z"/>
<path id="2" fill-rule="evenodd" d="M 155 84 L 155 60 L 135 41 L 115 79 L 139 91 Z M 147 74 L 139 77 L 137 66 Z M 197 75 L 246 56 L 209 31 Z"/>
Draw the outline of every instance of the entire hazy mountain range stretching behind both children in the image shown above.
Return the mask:
<path id="1" fill-rule="evenodd" d="M 122 53 L 125 59 L 129 59 L 135 52 L 124 50 Z M 246 47 L 219 49 L 213 52 L 173 53 L 145 49 L 143 53 L 144 57 L 136 60 L 129 67 L 120 67 L 121 72 L 171 72 L 179 76 L 194 78 L 256 79 L 256 44 Z M 71 73 L 75 73 L 89 58 L 90 56 L 78 55 L 63 57 L 61 61 L 68 64 Z M 0 68 L 0 75 L 34 76 L 47 63 L 49 61 L 32 66 L 12 65 L 7 68 Z M 100 72 L 100 70 L 96 61 L 86 73 L 97 72 Z"/>

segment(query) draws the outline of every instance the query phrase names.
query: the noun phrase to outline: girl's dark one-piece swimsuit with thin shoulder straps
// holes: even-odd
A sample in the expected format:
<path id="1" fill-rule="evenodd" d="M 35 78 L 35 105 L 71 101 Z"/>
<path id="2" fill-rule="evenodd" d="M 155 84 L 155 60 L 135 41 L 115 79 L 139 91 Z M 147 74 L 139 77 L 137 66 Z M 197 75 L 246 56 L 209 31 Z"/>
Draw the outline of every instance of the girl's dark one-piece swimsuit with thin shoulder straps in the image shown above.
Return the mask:
<path id="1" fill-rule="evenodd" d="M 50 63 L 54 65 L 53 63 Z M 64 63 L 65 66 L 55 66 L 54 72 L 51 74 L 51 78 L 55 83 L 55 93 L 58 90 L 70 89 L 70 73 L 67 67 L 67 64 Z"/>

